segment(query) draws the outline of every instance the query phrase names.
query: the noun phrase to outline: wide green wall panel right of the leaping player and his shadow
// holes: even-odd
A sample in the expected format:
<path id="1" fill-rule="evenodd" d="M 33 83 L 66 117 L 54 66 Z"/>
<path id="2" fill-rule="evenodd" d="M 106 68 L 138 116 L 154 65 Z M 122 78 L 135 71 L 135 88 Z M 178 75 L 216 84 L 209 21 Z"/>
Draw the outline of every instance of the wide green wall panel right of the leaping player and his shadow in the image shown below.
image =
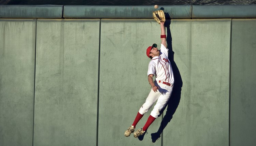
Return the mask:
<path id="1" fill-rule="evenodd" d="M 175 84 L 183 86 L 174 88 L 163 114 L 171 116 L 180 98 L 163 130 L 163 145 L 228 145 L 230 27 L 231 19 L 171 21 L 173 66 L 180 72 L 174 76 L 182 79 L 176 77 Z"/>

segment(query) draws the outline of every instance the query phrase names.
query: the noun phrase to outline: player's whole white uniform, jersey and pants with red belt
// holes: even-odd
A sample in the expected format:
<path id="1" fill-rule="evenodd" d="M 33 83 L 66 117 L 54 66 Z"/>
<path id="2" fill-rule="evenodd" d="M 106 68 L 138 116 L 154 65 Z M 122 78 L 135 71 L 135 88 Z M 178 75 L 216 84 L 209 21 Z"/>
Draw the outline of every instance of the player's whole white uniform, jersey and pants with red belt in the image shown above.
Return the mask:
<path id="1" fill-rule="evenodd" d="M 151 89 L 145 103 L 139 110 L 139 113 L 144 115 L 157 100 L 156 105 L 150 114 L 154 118 L 159 116 L 160 111 L 168 102 L 174 83 L 173 71 L 171 63 L 168 59 L 168 49 L 163 44 L 161 44 L 160 51 L 161 53 L 159 56 L 155 56 L 151 59 L 150 63 L 148 64 L 147 71 L 147 75 L 155 75 L 155 85 L 158 86 L 158 90 L 157 92 L 154 92 L 153 89 Z M 163 82 L 166 84 L 169 83 L 170 86 L 163 84 Z"/>

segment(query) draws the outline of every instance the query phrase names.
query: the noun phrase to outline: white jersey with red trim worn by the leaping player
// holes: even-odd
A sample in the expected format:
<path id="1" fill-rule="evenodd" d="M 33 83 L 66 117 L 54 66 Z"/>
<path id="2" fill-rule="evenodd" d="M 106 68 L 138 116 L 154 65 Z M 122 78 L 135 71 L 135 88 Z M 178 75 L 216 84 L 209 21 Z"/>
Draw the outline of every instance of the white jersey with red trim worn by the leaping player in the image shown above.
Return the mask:
<path id="1" fill-rule="evenodd" d="M 174 83 L 172 66 L 168 59 L 168 49 L 163 44 L 160 47 L 160 55 L 153 57 L 148 64 L 147 76 L 150 74 L 155 75 L 156 81 Z"/>

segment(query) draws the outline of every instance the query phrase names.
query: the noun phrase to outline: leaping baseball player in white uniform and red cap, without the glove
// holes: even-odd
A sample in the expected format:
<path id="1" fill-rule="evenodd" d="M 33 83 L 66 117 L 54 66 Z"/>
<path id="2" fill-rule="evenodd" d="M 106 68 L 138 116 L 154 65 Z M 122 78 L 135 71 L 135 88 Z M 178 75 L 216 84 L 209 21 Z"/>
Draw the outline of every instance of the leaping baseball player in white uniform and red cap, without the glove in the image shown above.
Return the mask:
<path id="1" fill-rule="evenodd" d="M 158 50 L 157 45 L 153 44 L 149 46 L 146 50 L 147 57 L 151 58 L 148 64 L 148 82 L 151 85 L 151 91 L 145 103 L 139 109 L 139 112 L 134 119 L 132 125 L 125 131 L 125 136 L 130 136 L 134 132 L 134 129 L 143 117 L 145 113 L 152 107 L 155 101 L 156 105 L 152 110 L 150 116 L 148 117 L 143 128 L 138 129 L 133 133 L 134 137 L 141 136 L 145 133 L 147 128 L 153 123 L 153 121 L 160 115 L 160 111 L 168 102 L 172 89 L 173 89 L 173 71 L 168 59 L 168 49 L 166 44 L 166 33 L 164 22 L 160 22 L 161 26 L 161 47 Z M 153 81 L 153 76 L 155 76 L 155 81 Z"/>

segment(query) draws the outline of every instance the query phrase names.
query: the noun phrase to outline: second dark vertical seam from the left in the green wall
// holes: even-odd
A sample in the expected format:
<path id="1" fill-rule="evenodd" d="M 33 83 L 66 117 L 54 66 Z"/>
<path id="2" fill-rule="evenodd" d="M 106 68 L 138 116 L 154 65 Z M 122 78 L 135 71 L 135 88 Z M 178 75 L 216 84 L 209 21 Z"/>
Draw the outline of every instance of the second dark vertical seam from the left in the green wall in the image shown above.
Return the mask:
<path id="1" fill-rule="evenodd" d="M 97 99 L 97 131 L 96 131 L 96 146 L 98 146 L 98 131 L 99 131 L 99 94 L 100 94 L 100 37 L 101 37 L 101 19 L 99 25 L 99 61 L 98 61 L 98 99 Z"/>

